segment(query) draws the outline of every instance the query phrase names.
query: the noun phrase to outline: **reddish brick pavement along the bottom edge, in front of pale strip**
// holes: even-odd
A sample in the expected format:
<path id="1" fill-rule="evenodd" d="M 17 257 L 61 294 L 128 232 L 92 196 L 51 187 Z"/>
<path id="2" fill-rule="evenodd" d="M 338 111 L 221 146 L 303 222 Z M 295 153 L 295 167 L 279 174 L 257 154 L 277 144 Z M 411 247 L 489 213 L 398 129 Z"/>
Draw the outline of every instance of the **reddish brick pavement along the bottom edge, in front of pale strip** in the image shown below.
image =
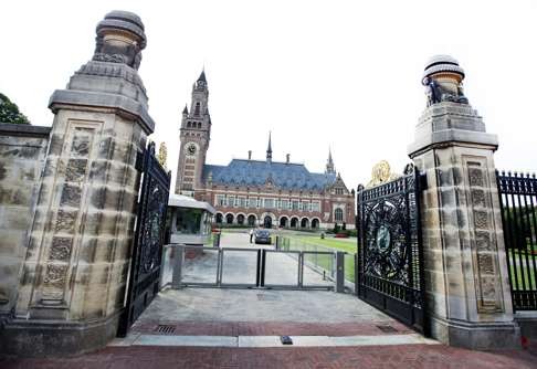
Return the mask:
<path id="1" fill-rule="evenodd" d="M 537 368 L 537 350 L 480 352 L 443 345 L 316 348 L 107 347 L 76 358 L 0 361 L 11 368 Z"/>

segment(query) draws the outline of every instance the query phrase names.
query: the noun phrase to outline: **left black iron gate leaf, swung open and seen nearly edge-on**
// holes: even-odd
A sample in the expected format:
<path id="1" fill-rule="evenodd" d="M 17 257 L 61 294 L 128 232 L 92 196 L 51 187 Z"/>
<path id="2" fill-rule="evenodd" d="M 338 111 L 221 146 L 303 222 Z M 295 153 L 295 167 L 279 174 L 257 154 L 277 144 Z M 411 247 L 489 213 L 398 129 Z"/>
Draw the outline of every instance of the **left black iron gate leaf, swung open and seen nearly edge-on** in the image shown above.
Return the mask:
<path id="1" fill-rule="evenodd" d="M 129 327 L 158 294 L 160 259 L 166 226 L 170 173 L 155 157 L 155 143 L 138 156 L 136 167 L 143 173 L 136 233 L 127 284 L 127 302 L 119 320 L 118 336 Z"/>

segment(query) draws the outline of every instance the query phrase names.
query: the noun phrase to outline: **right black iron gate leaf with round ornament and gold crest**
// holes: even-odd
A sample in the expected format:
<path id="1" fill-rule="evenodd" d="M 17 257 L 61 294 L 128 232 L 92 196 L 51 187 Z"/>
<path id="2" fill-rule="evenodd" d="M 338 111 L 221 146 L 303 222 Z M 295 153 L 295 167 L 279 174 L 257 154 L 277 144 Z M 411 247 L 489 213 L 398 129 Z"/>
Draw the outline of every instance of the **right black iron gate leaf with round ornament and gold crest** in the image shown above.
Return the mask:
<path id="1" fill-rule="evenodd" d="M 358 188 L 358 296 L 427 334 L 419 194 L 412 165 L 404 176 Z"/>

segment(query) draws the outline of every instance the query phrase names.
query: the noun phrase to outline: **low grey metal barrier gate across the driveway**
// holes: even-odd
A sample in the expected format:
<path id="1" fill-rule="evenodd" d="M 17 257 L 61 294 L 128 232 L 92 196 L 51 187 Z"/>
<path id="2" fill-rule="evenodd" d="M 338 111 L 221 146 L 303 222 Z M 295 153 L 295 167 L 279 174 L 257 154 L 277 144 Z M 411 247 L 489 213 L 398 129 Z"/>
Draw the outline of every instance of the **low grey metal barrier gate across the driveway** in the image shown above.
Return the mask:
<path id="1" fill-rule="evenodd" d="M 202 247 L 181 244 L 167 245 L 172 252 L 165 253 L 164 265 L 172 268 L 172 288 L 222 287 L 222 288 L 273 288 L 273 289 L 329 289 L 344 292 L 345 253 L 327 251 L 285 251 L 246 247 Z M 248 256 L 245 256 L 248 254 Z M 326 277 L 326 284 L 308 283 L 304 270 L 308 256 L 322 257 L 336 266 L 335 278 Z M 169 260 L 167 260 L 169 259 Z M 296 265 L 280 270 L 271 263 Z M 275 264 L 274 264 L 275 265 Z M 168 273 L 169 275 L 169 273 Z"/>

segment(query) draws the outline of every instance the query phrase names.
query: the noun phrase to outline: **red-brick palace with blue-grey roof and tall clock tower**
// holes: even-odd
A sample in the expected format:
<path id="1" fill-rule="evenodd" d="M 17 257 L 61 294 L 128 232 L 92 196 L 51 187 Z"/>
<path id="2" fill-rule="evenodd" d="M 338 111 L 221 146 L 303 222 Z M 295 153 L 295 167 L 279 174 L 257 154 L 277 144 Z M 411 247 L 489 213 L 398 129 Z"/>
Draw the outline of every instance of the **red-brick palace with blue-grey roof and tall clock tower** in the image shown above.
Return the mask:
<path id="1" fill-rule="evenodd" d="M 192 196 L 217 209 L 215 222 L 292 229 L 355 228 L 355 191 L 334 169 L 331 154 L 324 173 L 303 164 L 232 159 L 228 166 L 206 164 L 211 136 L 209 89 L 202 72 L 192 87 L 190 110 L 182 112 L 176 193 Z"/>

